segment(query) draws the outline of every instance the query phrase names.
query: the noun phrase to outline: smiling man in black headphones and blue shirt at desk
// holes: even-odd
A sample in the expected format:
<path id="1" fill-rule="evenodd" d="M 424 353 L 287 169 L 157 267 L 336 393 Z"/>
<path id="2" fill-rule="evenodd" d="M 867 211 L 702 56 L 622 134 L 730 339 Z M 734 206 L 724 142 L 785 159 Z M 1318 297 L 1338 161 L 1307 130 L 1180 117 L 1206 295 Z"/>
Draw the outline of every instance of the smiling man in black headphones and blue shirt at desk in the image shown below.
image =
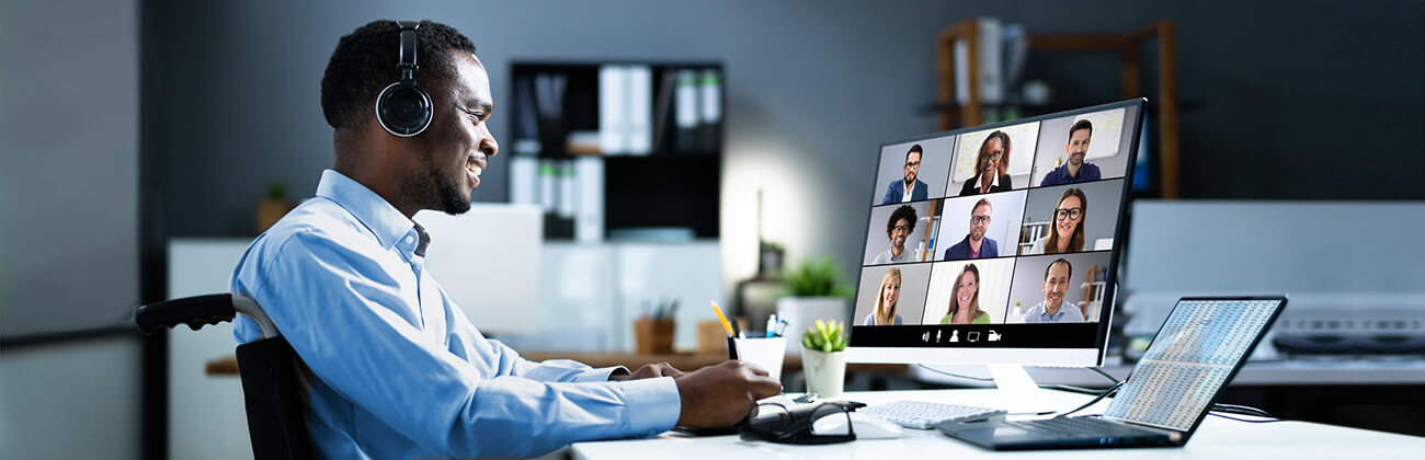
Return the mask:
<path id="1" fill-rule="evenodd" d="M 420 23 L 415 78 L 430 94 L 430 122 L 393 135 L 373 107 L 398 81 L 400 34 L 393 21 L 373 21 L 338 43 L 322 77 L 335 167 L 234 271 L 232 292 L 262 305 L 309 370 L 304 406 L 322 457 L 539 456 L 674 424 L 731 426 L 781 390 L 737 362 L 628 373 L 529 362 L 484 339 L 426 273 L 430 238 L 410 218 L 470 209 L 499 151 L 486 124 L 489 77 L 469 38 Z M 499 269 L 500 261 L 484 262 Z M 234 330 L 244 343 L 256 335 L 247 319 Z"/>

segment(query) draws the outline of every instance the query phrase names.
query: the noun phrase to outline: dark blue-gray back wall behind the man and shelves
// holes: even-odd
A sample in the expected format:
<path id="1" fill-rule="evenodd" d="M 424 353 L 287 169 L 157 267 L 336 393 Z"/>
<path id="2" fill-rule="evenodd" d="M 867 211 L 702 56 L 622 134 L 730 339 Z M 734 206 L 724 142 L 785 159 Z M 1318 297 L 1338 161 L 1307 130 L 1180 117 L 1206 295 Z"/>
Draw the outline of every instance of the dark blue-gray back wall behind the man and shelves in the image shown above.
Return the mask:
<path id="1" fill-rule="evenodd" d="M 309 195 L 332 161 L 318 83 L 336 40 L 372 19 L 435 19 L 476 41 L 499 103 L 512 58 L 721 60 L 727 64 L 724 204 L 752 192 L 781 209 L 791 256 L 856 261 L 869 168 L 885 140 L 935 130 L 933 37 L 973 16 L 1033 31 L 1129 31 L 1178 21 L 1183 191 L 1188 198 L 1425 198 L 1422 4 L 1340 1 L 229 1 L 155 0 L 167 14 L 167 88 L 147 122 L 168 185 L 172 235 L 251 235 L 269 181 Z M 1119 98 L 1114 57 L 1032 57 L 1073 100 Z M 507 118 L 492 121 L 502 140 Z M 1361 155 L 1367 154 L 1367 155 Z M 496 160 L 482 201 L 503 201 Z M 744 174 L 761 175 L 744 181 Z M 1348 185 L 1355 181 L 1357 185 Z M 775 184 L 787 182 L 778 189 Z M 777 195 L 784 198 L 777 198 Z M 792 197 L 792 198 L 787 198 Z M 744 199 L 745 198 L 745 199 Z M 732 219 L 724 238 L 751 219 Z M 745 225 L 742 224 L 745 222 Z M 735 225 L 730 229 L 728 225 Z M 750 231 L 748 231 L 750 232 Z M 751 245 L 747 245 L 751 248 Z M 741 249 L 734 249 L 738 252 Z M 747 249 L 751 252 L 755 249 Z M 751 262 L 745 272 L 751 272 Z M 740 263 L 730 268 L 741 275 Z M 848 268 L 848 275 L 855 272 Z"/>

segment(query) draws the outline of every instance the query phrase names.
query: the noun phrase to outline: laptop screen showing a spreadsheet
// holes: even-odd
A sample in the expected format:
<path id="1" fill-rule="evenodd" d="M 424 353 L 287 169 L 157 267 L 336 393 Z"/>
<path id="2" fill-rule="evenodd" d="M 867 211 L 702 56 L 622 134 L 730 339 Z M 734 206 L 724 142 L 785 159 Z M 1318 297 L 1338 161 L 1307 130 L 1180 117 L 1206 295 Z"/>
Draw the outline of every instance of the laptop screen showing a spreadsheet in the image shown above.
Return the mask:
<path id="1" fill-rule="evenodd" d="M 1237 373 L 1285 298 L 1184 298 L 1104 419 L 1188 432 Z"/>

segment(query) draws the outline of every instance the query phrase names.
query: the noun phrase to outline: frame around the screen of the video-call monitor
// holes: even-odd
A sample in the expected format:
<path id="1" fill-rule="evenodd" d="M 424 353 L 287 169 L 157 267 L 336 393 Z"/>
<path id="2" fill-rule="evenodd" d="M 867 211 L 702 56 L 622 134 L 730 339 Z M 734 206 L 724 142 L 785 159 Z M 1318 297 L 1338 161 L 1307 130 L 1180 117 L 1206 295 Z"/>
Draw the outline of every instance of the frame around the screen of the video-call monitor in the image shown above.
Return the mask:
<path id="1" fill-rule="evenodd" d="M 1127 238 L 1127 235 L 1129 235 L 1127 234 L 1127 229 L 1129 229 L 1129 208 L 1130 208 L 1130 204 L 1131 204 L 1130 201 L 1133 198 L 1133 174 L 1134 174 L 1134 164 L 1137 164 L 1139 142 L 1143 138 L 1143 120 L 1144 120 L 1144 115 L 1146 115 L 1144 114 L 1144 108 L 1147 107 L 1147 98 L 1141 98 L 1140 97 L 1140 98 L 1133 98 L 1133 100 L 1124 100 L 1124 101 L 1109 103 L 1109 104 L 1099 104 L 1099 105 L 1083 107 L 1083 108 L 1067 110 L 1067 111 L 1059 111 L 1059 113 L 1052 113 L 1052 114 L 1043 114 L 1043 115 L 1035 115 L 1035 117 L 1026 117 L 1026 118 L 1017 118 L 1017 120 L 1009 120 L 1009 121 L 999 121 L 999 122 L 975 125 L 975 127 L 965 127 L 965 128 L 958 128 L 958 130 L 950 130 L 950 131 L 940 131 L 940 132 L 923 134 L 923 135 L 916 135 L 916 137 L 909 137 L 909 138 L 884 141 L 876 148 L 876 154 L 872 155 L 874 160 L 872 160 L 872 167 L 871 167 L 871 169 L 875 171 L 872 174 L 872 178 L 871 178 L 872 188 L 875 188 L 876 175 L 879 172 L 878 171 L 878 165 L 881 162 L 881 155 L 884 154 L 885 148 L 891 147 L 891 145 L 906 144 L 906 142 L 916 142 L 916 141 L 925 141 L 925 140 L 933 140 L 933 138 L 945 138 L 945 137 L 952 137 L 952 135 L 962 135 L 962 134 L 966 134 L 966 132 L 993 130 L 993 128 L 999 128 L 999 127 L 1010 127 L 1010 125 L 1019 125 L 1019 124 L 1026 124 L 1026 122 L 1036 122 L 1036 121 L 1045 121 L 1045 120 L 1073 117 L 1073 115 L 1079 115 L 1079 114 L 1097 113 L 1097 111 L 1106 111 L 1106 110 L 1113 110 L 1113 108 L 1127 108 L 1127 107 L 1134 107 L 1136 108 L 1136 111 L 1133 114 L 1133 131 L 1131 131 L 1133 138 L 1129 142 L 1129 151 L 1127 151 L 1129 158 L 1127 158 L 1127 164 L 1126 164 L 1124 171 L 1123 171 L 1123 189 L 1120 191 L 1120 198 L 1119 198 L 1119 204 L 1120 204 L 1119 205 L 1119 218 L 1116 221 L 1117 222 L 1117 228 L 1114 229 L 1114 234 L 1113 234 L 1114 245 L 1109 251 L 1110 252 L 1109 253 L 1109 272 L 1107 272 L 1107 279 L 1106 279 L 1106 286 L 1104 286 L 1104 306 L 1103 306 L 1106 309 L 1106 312 L 1103 312 L 1100 315 L 1102 320 L 1099 322 L 1097 333 L 1096 333 L 1094 340 L 1093 340 L 1094 345 L 1096 345 L 1096 347 L 1052 347 L 1052 346 L 1050 347 L 966 347 L 966 346 L 953 346 L 953 347 L 952 346 L 933 346 L 933 347 L 926 347 L 926 346 L 919 346 L 919 347 L 918 346 L 893 346 L 893 347 L 888 347 L 888 346 L 865 346 L 865 345 L 856 346 L 856 333 L 855 333 L 856 329 L 861 329 L 861 328 L 886 328 L 886 326 L 862 326 L 862 325 L 856 325 L 855 318 L 854 318 L 856 306 L 855 306 L 855 300 L 852 300 L 852 305 L 851 305 L 852 320 L 848 322 L 851 325 L 851 328 L 849 328 L 849 340 L 848 340 L 848 346 L 846 346 L 846 362 L 854 362 L 854 363 L 962 363 L 962 365 L 999 365 L 999 363 L 1009 363 L 1009 365 L 1023 365 L 1023 366 L 1102 366 L 1103 360 L 1104 360 L 1104 353 L 1107 352 L 1107 345 L 1109 345 L 1109 340 L 1107 340 L 1107 338 L 1109 338 L 1109 329 L 1112 328 L 1112 323 L 1113 323 L 1113 310 L 1114 310 L 1113 302 L 1116 300 L 1116 296 L 1117 296 L 1117 275 L 1119 275 L 1119 263 L 1123 259 L 1123 242 L 1126 241 L 1124 238 Z M 1033 182 L 1033 177 L 1030 177 L 1030 182 Z M 1027 188 L 1025 188 L 1025 191 L 1029 191 L 1029 189 L 1033 189 L 1033 188 L 1035 187 L 1027 187 Z M 949 197 L 942 197 L 942 198 L 949 198 Z M 876 207 L 878 205 L 875 205 L 875 204 L 866 207 L 866 216 L 865 216 L 865 219 L 862 219 L 862 226 L 861 228 L 871 228 L 871 214 L 875 211 Z M 861 245 L 861 253 L 865 253 L 865 251 L 866 251 L 866 244 L 862 242 L 862 245 Z M 858 263 L 858 269 L 856 269 L 856 289 L 858 289 L 856 295 L 858 295 L 858 298 L 859 298 L 859 293 L 861 293 L 859 292 L 859 289 L 861 289 L 861 278 L 864 275 L 865 275 L 865 266 Z M 921 326 L 926 326 L 926 325 L 921 325 Z M 1045 326 L 1050 326 L 1050 325 L 1045 325 Z M 938 328 L 950 328 L 950 326 L 938 326 Z M 938 328 L 931 328 L 931 329 L 938 329 Z"/>

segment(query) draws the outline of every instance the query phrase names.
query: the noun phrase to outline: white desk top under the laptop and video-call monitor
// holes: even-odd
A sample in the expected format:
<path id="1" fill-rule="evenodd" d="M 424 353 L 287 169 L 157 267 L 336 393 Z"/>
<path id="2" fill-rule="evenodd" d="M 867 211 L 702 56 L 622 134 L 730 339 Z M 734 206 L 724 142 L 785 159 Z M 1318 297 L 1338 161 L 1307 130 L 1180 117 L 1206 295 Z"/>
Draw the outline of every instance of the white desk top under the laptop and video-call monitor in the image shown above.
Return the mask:
<path id="1" fill-rule="evenodd" d="M 854 392 L 846 399 L 868 404 L 892 400 L 933 400 L 959 404 L 993 406 L 995 390 L 913 390 L 913 392 Z M 1090 397 L 1053 392 L 1054 403 L 1073 409 Z M 1086 409 L 1099 413 L 1106 403 Z M 1240 417 L 1240 416 L 1238 416 Z M 1053 457 L 1053 459 L 1421 459 L 1425 457 L 1425 437 L 1368 432 L 1304 422 L 1241 423 L 1208 416 L 1193 433 L 1186 447 L 1168 449 L 1100 449 L 1100 450 L 1039 450 L 999 453 L 983 450 L 936 430 L 905 430 L 892 440 L 858 440 L 829 446 L 787 446 L 765 441 L 744 441 L 737 436 L 685 437 L 664 433 L 646 440 L 591 441 L 573 446 L 574 459 L 993 459 L 993 457 Z"/>

